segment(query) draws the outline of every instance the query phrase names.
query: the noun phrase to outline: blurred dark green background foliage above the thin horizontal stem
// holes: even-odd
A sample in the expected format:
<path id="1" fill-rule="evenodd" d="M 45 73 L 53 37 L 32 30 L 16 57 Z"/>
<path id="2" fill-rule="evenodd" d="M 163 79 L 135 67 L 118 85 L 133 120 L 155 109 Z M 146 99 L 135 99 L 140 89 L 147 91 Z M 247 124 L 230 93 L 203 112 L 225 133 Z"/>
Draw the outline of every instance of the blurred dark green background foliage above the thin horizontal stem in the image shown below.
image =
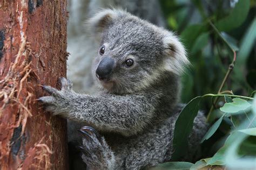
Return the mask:
<path id="1" fill-rule="evenodd" d="M 224 90 L 249 95 L 256 89 L 256 1 L 242 0 L 160 0 L 167 27 L 180 35 L 192 67 L 183 76 L 181 101 L 195 96 L 217 93 L 232 62 L 233 53 L 214 32 L 217 27 L 228 44 L 236 49 L 237 61 Z M 203 101 L 209 110 L 211 101 Z"/>

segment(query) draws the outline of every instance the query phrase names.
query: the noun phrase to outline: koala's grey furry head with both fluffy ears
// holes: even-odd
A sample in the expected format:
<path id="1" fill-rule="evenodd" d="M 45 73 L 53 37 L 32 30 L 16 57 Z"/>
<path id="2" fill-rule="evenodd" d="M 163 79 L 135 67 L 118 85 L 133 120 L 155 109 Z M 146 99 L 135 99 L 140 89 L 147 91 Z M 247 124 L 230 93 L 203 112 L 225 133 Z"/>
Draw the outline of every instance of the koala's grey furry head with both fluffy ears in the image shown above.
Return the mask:
<path id="1" fill-rule="evenodd" d="M 147 89 L 188 63 L 185 49 L 172 32 L 122 10 L 103 10 L 89 20 L 99 40 L 92 74 L 99 86 L 115 94 Z"/>

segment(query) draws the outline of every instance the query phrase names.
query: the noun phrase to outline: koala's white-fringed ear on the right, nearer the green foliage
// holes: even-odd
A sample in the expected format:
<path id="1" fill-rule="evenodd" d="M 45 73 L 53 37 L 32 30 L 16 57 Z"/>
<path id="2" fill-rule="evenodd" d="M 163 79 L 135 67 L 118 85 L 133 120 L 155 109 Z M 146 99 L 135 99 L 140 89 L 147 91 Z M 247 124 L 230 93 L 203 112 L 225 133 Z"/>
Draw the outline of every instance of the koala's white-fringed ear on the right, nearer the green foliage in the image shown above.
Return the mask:
<path id="1" fill-rule="evenodd" d="M 163 41 L 165 54 L 164 69 L 180 75 L 183 73 L 185 66 L 190 65 L 185 48 L 178 37 L 171 32 L 164 35 Z"/>

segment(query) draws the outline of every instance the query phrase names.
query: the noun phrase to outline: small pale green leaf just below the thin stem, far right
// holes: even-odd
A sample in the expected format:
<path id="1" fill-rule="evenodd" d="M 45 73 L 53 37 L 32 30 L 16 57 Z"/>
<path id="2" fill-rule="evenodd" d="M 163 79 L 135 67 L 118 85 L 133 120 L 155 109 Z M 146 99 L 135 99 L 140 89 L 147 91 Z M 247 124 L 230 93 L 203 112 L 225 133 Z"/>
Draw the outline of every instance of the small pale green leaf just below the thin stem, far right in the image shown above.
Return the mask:
<path id="1" fill-rule="evenodd" d="M 252 104 L 248 103 L 246 100 L 241 98 L 234 98 L 232 103 L 225 103 L 224 106 L 220 108 L 220 111 L 226 113 L 236 113 L 242 110 L 246 110 L 251 106 Z"/>

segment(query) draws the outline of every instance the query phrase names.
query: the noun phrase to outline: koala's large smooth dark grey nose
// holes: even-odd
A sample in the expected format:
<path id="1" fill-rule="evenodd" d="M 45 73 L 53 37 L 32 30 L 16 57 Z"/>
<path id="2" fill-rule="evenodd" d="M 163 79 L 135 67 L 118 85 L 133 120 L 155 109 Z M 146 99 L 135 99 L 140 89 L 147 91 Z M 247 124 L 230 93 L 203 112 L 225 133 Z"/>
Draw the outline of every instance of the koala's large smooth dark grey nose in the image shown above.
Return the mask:
<path id="1" fill-rule="evenodd" d="M 105 57 L 99 62 L 99 66 L 96 69 L 96 76 L 99 80 L 105 80 L 109 77 L 114 68 L 114 59 Z"/>

